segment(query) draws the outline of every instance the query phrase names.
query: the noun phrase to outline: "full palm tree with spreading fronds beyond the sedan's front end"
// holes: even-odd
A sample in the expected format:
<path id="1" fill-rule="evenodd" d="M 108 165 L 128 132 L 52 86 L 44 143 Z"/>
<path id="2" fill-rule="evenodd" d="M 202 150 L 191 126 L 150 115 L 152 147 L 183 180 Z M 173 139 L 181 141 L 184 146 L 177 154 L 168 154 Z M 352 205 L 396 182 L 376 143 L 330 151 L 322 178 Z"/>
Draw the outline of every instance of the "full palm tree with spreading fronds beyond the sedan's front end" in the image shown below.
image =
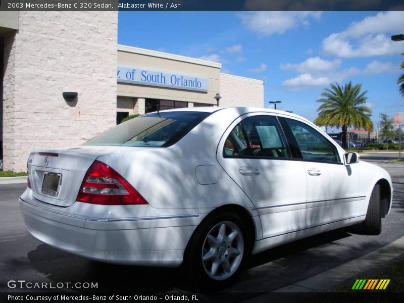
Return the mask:
<path id="1" fill-rule="evenodd" d="M 366 128 L 373 131 L 373 123 L 367 116 L 372 113 L 365 106 L 367 90 L 361 92 L 362 84 L 346 83 L 343 87 L 338 83 L 330 84 L 331 88 L 324 88 L 321 105 L 317 112 L 319 116 L 314 121 L 319 126 L 334 126 L 342 128 L 342 147 L 346 148 L 346 133 L 349 126 Z"/>

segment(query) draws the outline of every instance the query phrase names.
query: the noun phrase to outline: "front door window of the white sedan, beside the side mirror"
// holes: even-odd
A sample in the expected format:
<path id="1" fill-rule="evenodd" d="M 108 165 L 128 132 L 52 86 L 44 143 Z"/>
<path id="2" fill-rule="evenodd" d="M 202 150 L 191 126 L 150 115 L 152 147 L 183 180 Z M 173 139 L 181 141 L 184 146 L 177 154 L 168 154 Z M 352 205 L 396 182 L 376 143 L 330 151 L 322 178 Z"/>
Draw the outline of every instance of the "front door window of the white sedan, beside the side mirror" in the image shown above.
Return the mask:
<path id="1" fill-rule="evenodd" d="M 340 163 L 336 147 L 313 127 L 292 119 L 284 119 L 289 126 L 301 158 L 311 161 Z M 293 142 L 289 142 L 293 144 Z"/>

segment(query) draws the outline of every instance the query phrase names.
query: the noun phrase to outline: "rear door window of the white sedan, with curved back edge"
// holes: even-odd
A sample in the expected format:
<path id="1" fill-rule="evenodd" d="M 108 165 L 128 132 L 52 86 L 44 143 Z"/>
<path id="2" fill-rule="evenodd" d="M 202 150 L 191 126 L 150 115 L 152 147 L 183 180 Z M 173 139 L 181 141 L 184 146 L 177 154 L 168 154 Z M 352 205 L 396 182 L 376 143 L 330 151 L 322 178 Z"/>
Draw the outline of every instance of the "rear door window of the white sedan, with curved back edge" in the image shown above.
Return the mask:
<path id="1" fill-rule="evenodd" d="M 290 157 L 275 117 L 252 116 L 238 123 L 226 139 L 224 157 Z"/>

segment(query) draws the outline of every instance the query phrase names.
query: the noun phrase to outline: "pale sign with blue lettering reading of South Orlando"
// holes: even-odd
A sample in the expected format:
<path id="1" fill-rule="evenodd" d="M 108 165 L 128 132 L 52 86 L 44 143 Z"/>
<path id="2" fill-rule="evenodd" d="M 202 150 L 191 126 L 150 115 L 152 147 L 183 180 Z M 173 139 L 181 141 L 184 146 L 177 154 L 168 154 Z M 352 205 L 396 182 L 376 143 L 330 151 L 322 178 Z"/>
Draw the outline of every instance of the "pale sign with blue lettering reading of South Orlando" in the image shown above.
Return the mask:
<path id="1" fill-rule="evenodd" d="M 117 82 L 208 92 L 208 78 L 118 65 Z"/>

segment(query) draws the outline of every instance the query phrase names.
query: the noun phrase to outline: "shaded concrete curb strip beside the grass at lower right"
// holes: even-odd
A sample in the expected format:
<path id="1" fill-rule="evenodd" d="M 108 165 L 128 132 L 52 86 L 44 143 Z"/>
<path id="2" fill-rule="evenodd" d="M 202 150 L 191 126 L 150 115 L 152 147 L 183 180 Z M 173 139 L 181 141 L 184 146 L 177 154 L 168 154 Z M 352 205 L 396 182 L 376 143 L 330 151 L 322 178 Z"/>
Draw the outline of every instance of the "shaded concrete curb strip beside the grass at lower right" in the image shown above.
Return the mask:
<path id="1" fill-rule="evenodd" d="M 272 292 L 324 292 L 349 280 L 354 283 L 356 279 L 373 278 L 366 275 L 377 273 L 402 260 L 404 260 L 404 236 L 362 257 Z M 255 297 L 254 300 L 269 301 L 271 297 L 272 294 L 268 292 Z"/>

